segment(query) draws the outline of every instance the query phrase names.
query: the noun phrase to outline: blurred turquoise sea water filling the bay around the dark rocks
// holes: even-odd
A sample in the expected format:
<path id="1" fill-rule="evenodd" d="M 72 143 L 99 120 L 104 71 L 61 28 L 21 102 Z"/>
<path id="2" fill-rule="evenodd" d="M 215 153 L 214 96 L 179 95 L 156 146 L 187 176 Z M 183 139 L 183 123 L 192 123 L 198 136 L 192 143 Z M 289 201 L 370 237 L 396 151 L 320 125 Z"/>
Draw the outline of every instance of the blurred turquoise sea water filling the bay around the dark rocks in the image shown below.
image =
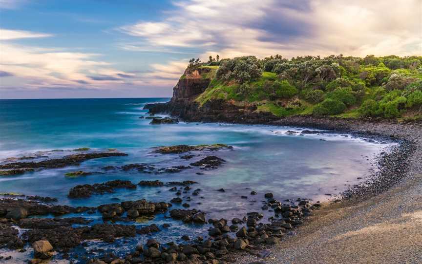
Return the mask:
<path id="1" fill-rule="evenodd" d="M 338 194 L 348 186 L 359 183 L 357 177 L 370 175 L 375 168 L 373 158 L 390 146 L 384 142 L 368 142 L 350 135 L 302 136 L 285 133 L 288 130 L 301 131 L 301 128 L 183 122 L 175 125 L 150 125 L 150 120 L 139 118 L 148 115 L 142 109 L 146 103 L 165 101 L 168 98 L 0 100 L 2 162 L 9 157 L 30 156 L 37 151 L 65 150 L 45 152 L 50 157 L 60 156 L 82 147 L 94 151 L 115 148 L 129 154 L 126 157 L 86 161 L 80 167 L 1 177 L 0 192 L 56 197 L 59 204 L 71 206 L 98 206 L 142 198 L 154 202 L 169 202 L 174 197 L 174 193 L 168 191 L 169 187 L 121 189 L 112 194 L 94 195 L 87 199 L 68 199 L 67 193 L 78 184 L 102 183 L 114 179 L 131 180 L 133 183 L 140 180 L 194 180 L 199 184 L 193 188 L 202 189 L 201 195 L 204 198 L 191 196 L 190 208 L 204 210 L 207 212 L 207 219 L 243 218 L 248 211 L 261 211 L 261 200 L 265 192 L 273 192 L 277 200 L 295 200 L 301 197 L 317 201 L 327 199 L 325 193 Z M 110 171 L 79 178 L 64 176 L 66 172 L 75 170 L 101 171 L 104 166 L 130 163 L 149 163 L 157 167 L 186 165 L 192 161 L 182 160 L 179 155 L 151 153 L 151 148 L 213 143 L 234 147 L 231 151 L 212 153 L 226 160 L 225 164 L 215 170 L 194 168 L 171 174 Z M 199 171 L 204 174 L 196 174 Z M 216 191 L 220 188 L 224 188 L 226 192 Z M 251 196 L 251 190 L 257 191 L 258 195 Z M 248 196 L 248 199 L 242 199 L 242 195 Z M 181 206 L 172 208 L 178 207 Z M 272 212 L 264 213 L 265 222 Z M 99 214 L 83 216 L 101 221 Z M 166 219 L 164 214 L 136 225 L 152 223 L 171 224 L 169 229 L 154 235 L 163 242 L 180 242 L 182 234 L 193 237 L 204 234 L 209 227 L 174 222 Z M 124 239 L 118 240 L 115 243 L 119 245 L 118 250 L 115 248 L 116 252 L 129 251 L 133 244 L 146 239 L 147 236 L 139 235 L 130 239 L 129 244 L 123 244 Z M 100 242 L 91 244 L 92 247 L 105 245 Z"/>

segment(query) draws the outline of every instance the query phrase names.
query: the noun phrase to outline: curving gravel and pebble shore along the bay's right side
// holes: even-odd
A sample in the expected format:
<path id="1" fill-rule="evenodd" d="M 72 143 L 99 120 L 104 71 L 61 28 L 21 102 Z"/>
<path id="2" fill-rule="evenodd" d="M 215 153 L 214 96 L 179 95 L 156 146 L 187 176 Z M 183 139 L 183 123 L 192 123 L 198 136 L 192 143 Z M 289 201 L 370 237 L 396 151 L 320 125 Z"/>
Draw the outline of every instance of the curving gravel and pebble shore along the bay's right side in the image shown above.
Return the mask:
<path id="1" fill-rule="evenodd" d="M 381 170 L 369 187 L 352 190 L 340 203 L 326 204 L 296 236 L 272 247 L 266 259 L 241 253 L 237 263 L 422 263 L 422 122 L 292 117 L 274 124 L 401 140 L 404 149 L 389 161 L 406 169 Z"/>

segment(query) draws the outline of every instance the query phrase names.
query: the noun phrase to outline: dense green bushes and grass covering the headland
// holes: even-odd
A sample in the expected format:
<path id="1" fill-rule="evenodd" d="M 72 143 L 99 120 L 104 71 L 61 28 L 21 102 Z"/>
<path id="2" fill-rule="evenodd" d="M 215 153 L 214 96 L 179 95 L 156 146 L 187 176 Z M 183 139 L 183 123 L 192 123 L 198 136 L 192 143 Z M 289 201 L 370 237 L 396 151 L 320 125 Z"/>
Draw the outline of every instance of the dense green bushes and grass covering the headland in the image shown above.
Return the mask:
<path id="1" fill-rule="evenodd" d="M 422 57 L 279 55 L 191 60 L 205 67 L 211 83 L 196 100 L 256 104 L 257 111 L 344 117 L 421 117 Z"/>

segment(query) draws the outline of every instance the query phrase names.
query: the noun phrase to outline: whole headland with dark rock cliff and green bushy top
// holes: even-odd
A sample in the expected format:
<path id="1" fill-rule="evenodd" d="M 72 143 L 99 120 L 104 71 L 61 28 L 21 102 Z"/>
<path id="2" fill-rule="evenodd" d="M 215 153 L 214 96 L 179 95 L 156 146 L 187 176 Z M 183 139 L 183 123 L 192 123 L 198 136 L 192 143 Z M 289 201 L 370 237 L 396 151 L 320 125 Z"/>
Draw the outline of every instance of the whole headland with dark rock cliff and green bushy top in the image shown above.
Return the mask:
<path id="1" fill-rule="evenodd" d="M 217 65 L 215 65 L 217 64 Z M 168 103 L 185 121 L 268 123 L 288 116 L 421 119 L 422 57 L 253 56 L 190 62 Z"/>

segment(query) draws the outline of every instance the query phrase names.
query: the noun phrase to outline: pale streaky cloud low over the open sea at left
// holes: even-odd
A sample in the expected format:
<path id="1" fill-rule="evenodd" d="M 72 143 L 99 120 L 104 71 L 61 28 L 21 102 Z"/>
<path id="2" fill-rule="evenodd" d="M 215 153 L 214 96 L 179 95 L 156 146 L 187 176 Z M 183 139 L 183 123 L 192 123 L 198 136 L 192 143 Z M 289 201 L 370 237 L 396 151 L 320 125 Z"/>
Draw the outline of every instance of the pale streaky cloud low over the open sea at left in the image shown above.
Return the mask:
<path id="1" fill-rule="evenodd" d="M 2 33 L 6 33 L 2 35 Z M 37 90 L 49 87 L 68 89 L 119 89 L 140 85 L 142 81 L 128 83 L 123 76 L 133 76 L 114 69 L 100 59 L 100 54 L 75 52 L 63 48 L 42 48 L 19 45 L 19 38 L 51 36 L 29 31 L 2 30 L 0 39 L 0 76 L 2 86 Z"/>

